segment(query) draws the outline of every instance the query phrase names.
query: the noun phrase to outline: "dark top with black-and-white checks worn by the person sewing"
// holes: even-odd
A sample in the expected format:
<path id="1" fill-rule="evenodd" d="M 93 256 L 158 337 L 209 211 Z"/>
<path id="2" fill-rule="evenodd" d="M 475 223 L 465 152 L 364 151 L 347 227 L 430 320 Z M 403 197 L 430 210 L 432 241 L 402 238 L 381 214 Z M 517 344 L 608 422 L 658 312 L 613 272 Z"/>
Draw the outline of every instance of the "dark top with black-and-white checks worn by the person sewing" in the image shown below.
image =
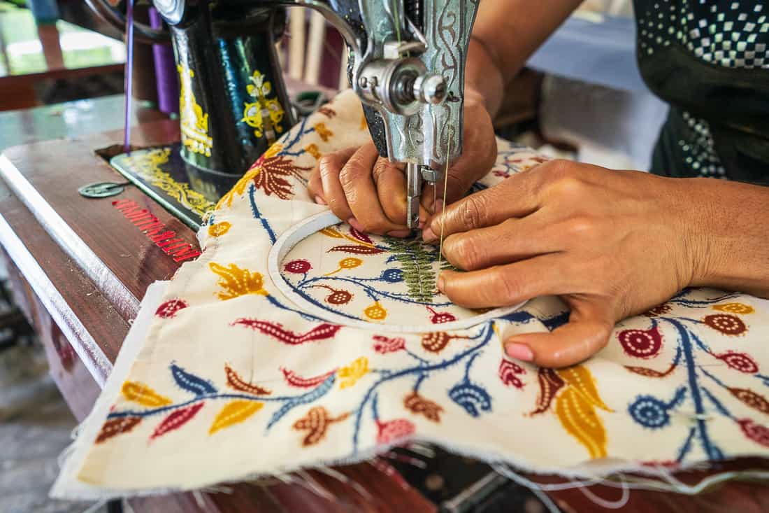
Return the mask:
<path id="1" fill-rule="evenodd" d="M 769 4 L 635 0 L 638 65 L 671 104 L 654 173 L 769 183 Z"/>

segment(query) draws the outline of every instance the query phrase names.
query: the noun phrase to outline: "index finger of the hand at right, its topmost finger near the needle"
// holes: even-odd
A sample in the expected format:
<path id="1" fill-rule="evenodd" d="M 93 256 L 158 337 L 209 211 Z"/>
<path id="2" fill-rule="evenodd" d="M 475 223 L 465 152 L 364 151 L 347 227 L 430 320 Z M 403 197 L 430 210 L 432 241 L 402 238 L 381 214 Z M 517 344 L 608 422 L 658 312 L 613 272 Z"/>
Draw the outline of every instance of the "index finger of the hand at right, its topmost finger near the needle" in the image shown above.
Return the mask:
<path id="1" fill-rule="evenodd" d="M 434 242 L 443 230 L 444 237 L 451 233 L 467 232 L 494 226 L 511 217 L 524 217 L 539 207 L 538 180 L 529 169 L 498 183 L 493 187 L 471 194 L 447 205 L 440 216 L 434 216 L 424 240 Z"/>

